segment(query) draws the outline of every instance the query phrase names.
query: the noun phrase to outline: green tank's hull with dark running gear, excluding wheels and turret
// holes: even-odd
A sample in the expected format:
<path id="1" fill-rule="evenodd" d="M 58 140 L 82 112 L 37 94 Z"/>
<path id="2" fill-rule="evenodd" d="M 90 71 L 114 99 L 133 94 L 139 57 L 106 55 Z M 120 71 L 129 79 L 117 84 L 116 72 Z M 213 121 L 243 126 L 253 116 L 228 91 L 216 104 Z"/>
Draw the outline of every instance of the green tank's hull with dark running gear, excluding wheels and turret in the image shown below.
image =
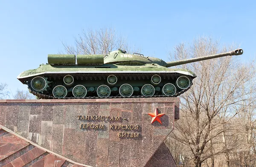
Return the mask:
<path id="1" fill-rule="evenodd" d="M 71 75 L 73 83 L 65 84 L 64 77 Z M 115 75 L 117 81 L 115 84 L 108 83 L 108 76 Z M 158 75 L 161 78 L 160 83 L 154 84 L 151 77 Z M 176 85 L 177 78 L 186 76 L 189 78 L 189 86 L 186 89 L 179 89 L 174 95 L 165 95 L 162 93 L 163 86 L 167 83 Z M 47 82 L 46 88 L 41 91 L 33 89 L 33 78 L 41 77 Z M 154 88 L 154 94 L 147 97 L 176 97 L 183 92 L 186 92 L 192 85 L 192 79 L 196 75 L 186 69 L 169 69 L 158 64 L 145 64 L 140 66 L 122 66 L 115 64 L 100 64 L 100 65 L 41 65 L 38 69 L 32 69 L 22 72 L 17 79 L 23 84 L 27 84 L 29 91 L 39 98 L 58 98 L 52 92 L 56 86 L 64 86 L 67 89 L 67 95 L 61 98 L 81 98 L 73 95 L 73 89 L 76 85 L 82 85 L 87 89 L 86 96 L 82 98 L 123 98 L 127 97 L 119 92 L 120 86 L 129 84 L 134 89 L 129 97 L 145 97 L 141 89 L 144 85 L 150 84 Z M 99 97 L 97 89 L 101 85 L 106 85 L 111 89 L 111 94 L 108 97 Z M 93 91 L 89 91 L 90 88 Z M 117 89 L 117 90 L 116 90 Z M 139 89 L 139 91 L 137 90 Z"/>

